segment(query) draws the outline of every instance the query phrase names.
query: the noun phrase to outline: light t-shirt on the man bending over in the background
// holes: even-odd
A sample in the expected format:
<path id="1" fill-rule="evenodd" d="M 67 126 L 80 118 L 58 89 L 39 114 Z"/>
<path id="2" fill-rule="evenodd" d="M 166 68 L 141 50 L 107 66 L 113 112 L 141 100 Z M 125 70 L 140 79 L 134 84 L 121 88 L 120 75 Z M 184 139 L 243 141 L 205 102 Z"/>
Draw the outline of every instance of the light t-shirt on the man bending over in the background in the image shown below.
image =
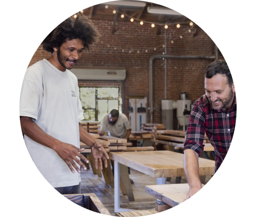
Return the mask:
<path id="1" fill-rule="evenodd" d="M 131 129 L 130 122 L 125 114 L 120 113 L 115 124 L 109 123 L 109 114 L 105 115 L 100 131 L 109 130 L 109 136 L 125 138 L 127 129 Z"/>

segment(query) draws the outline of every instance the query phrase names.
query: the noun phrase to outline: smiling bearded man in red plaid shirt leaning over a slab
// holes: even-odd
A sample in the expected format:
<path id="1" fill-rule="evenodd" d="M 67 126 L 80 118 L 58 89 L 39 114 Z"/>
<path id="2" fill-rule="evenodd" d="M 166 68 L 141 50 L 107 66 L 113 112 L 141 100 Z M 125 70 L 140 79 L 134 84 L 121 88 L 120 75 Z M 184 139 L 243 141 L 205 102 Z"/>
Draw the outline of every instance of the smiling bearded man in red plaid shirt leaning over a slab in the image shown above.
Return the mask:
<path id="1" fill-rule="evenodd" d="M 184 169 L 189 183 L 185 200 L 202 188 L 198 158 L 204 150 L 204 134 L 214 147 L 216 172 L 228 152 L 235 129 L 235 87 L 225 60 L 216 60 L 206 67 L 204 88 L 205 95 L 194 102 L 184 143 Z"/>

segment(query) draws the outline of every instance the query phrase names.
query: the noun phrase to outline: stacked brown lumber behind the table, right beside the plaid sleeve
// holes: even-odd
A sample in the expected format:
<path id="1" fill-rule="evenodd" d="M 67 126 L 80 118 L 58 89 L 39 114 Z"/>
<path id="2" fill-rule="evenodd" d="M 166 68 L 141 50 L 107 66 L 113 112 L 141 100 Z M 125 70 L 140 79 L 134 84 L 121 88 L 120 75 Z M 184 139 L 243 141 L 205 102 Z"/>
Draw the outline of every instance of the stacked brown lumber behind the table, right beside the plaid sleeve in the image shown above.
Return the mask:
<path id="1" fill-rule="evenodd" d="M 186 131 L 179 130 L 157 130 L 154 134 L 152 141 L 155 145 L 169 145 L 176 148 L 183 148 L 185 142 Z M 207 136 L 205 135 L 204 143 L 209 143 Z"/>

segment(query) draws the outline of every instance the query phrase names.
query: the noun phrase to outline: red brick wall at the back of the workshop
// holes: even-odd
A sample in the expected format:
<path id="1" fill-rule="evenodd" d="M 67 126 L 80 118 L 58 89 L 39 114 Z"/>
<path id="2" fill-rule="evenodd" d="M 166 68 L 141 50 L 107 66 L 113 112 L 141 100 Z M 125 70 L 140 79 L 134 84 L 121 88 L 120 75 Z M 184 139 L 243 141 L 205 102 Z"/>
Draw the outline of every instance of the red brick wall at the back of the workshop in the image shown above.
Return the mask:
<path id="1" fill-rule="evenodd" d="M 118 22 L 116 32 L 112 34 L 112 22 L 102 20 L 93 20 L 93 22 L 100 31 L 100 41 L 90 48 L 90 52 L 83 53 L 76 67 L 125 68 L 124 97 L 142 95 L 149 99 L 149 60 L 153 55 L 165 52 L 163 26 L 159 34 L 159 29 L 151 28 L 149 24 L 141 26 L 138 22 Z M 215 45 L 211 38 L 198 26 L 194 26 L 191 32 L 189 28 L 189 24 L 183 24 L 179 29 L 174 25 L 169 26 L 166 30 L 166 54 L 214 56 Z M 50 53 L 39 47 L 29 65 L 49 55 Z M 220 52 L 218 52 L 218 57 L 218 59 L 223 59 Z M 204 94 L 204 69 L 212 61 L 209 59 L 166 59 L 166 99 L 179 100 L 180 93 L 186 91 L 188 99 L 194 102 Z M 165 93 L 164 65 L 162 59 L 153 61 L 155 111 L 152 121 L 148 114 L 148 122 L 152 123 L 161 123 L 161 100 L 164 99 Z M 89 83 L 91 84 L 92 81 Z M 124 112 L 127 107 L 128 99 L 125 98 Z"/>

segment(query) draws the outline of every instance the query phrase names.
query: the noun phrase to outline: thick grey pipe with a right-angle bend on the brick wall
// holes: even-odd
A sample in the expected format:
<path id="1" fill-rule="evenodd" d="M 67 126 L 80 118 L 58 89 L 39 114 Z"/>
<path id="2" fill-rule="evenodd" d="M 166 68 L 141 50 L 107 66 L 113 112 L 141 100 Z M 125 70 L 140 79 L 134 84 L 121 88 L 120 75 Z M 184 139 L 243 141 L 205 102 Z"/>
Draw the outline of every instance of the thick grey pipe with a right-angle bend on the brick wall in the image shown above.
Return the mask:
<path id="1" fill-rule="evenodd" d="M 153 62 L 155 59 L 216 59 L 215 56 L 178 56 L 178 55 L 165 55 L 165 54 L 156 54 L 150 57 L 149 59 L 149 114 L 150 114 L 150 123 L 153 121 L 154 113 L 154 100 L 153 100 Z"/>

